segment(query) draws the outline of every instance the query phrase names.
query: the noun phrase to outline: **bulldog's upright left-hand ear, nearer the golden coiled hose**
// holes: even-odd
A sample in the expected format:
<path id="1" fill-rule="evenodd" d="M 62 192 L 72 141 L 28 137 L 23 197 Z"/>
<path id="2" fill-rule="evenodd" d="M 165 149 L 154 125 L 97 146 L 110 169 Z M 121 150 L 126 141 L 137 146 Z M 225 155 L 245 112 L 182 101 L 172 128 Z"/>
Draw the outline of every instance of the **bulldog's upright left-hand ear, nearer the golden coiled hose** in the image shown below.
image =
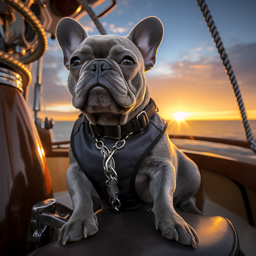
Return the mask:
<path id="1" fill-rule="evenodd" d="M 83 26 L 76 20 L 66 17 L 59 21 L 56 36 L 63 52 L 64 66 L 69 70 L 69 58 L 81 42 L 88 37 Z"/>

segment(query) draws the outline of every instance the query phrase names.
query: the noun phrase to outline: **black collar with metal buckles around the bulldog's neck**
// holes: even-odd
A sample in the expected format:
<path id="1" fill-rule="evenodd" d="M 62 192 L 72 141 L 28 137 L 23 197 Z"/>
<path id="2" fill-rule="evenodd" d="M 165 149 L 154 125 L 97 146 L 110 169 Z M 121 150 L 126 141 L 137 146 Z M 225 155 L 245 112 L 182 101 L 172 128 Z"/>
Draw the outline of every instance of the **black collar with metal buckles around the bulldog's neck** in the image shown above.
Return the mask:
<path id="1" fill-rule="evenodd" d="M 86 131 L 92 133 L 92 135 L 94 135 L 95 137 L 105 136 L 108 138 L 120 140 L 121 137 L 126 136 L 130 133 L 139 132 L 143 130 L 146 126 L 148 126 L 149 119 L 153 116 L 155 111 L 158 112 L 158 108 L 154 100 L 150 98 L 148 106 L 125 125 L 93 125 L 87 120 L 86 116 L 84 115 L 84 119 L 86 121 Z M 82 115 L 83 114 L 81 113 L 79 117 L 81 117 Z"/>

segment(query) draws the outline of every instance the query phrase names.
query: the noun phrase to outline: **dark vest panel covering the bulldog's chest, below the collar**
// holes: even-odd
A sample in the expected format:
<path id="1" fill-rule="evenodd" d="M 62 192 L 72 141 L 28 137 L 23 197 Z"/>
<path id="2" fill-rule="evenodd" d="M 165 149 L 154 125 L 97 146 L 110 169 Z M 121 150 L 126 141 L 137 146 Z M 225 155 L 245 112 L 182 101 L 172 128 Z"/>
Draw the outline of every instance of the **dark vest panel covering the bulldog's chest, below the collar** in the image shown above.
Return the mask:
<path id="1" fill-rule="evenodd" d="M 82 118 L 82 117 L 81 117 Z M 76 124 L 77 123 L 77 124 Z M 85 122 L 76 122 L 80 125 L 79 130 L 71 135 L 71 148 L 84 173 L 94 185 L 99 196 L 105 204 L 109 205 L 109 194 L 105 185 L 106 176 L 103 170 L 103 156 L 95 146 L 95 141 L 90 133 L 86 131 Z M 141 132 L 135 133 L 126 140 L 125 146 L 114 155 L 115 170 L 118 175 L 119 199 L 123 209 L 140 206 L 141 202 L 136 200 L 133 183 L 135 182 L 136 170 L 144 152 L 154 142 L 158 134 L 163 130 L 163 121 L 155 113 L 149 125 Z M 100 140 L 111 149 L 117 140 L 100 137 Z M 131 186 L 132 185 L 132 186 Z"/>

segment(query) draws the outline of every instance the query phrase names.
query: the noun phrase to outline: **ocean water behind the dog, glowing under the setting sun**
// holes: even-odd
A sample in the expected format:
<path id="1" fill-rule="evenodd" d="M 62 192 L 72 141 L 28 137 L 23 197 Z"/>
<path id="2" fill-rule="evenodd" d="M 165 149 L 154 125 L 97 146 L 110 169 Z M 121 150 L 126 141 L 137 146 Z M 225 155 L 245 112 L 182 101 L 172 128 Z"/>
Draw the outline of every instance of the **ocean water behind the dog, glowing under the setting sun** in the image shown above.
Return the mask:
<path id="1" fill-rule="evenodd" d="M 256 120 L 250 120 L 250 126 L 256 138 Z M 58 122 L 53 127 L 55 140 L 70 140 L 74 122 Z M 230 138 L 246 141 L 241 121 L 168 121 L 167 131 L 174 135 L 190 135 L 215 138 Z M 180 149 L 216 153 L 256 164 L 256 156 L 249 148 L 226 145 L 222 143 L 171 139 Z"/>

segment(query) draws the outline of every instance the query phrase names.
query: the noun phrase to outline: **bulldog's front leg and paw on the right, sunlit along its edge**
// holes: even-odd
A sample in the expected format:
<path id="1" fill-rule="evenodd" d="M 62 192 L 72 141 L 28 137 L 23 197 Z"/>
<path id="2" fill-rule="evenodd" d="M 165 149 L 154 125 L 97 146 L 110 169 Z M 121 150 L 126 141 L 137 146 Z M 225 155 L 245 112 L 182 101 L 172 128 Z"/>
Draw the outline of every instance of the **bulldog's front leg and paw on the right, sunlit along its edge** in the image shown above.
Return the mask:
<path id="1" fill-rule="evenodd" d="M 198 237 L 195 230 L 180 217 L 173 207 L 173 193 L 176 187 L 175 168 L 170 161 L 162 159 L 150 179 L 150 193 L 154 198 L 153 212 L 156 229 L 163 237 L 175 239 L 181 244 L 196 248 Z M 195 239 L 195 240 L 194 240 Z"/>

